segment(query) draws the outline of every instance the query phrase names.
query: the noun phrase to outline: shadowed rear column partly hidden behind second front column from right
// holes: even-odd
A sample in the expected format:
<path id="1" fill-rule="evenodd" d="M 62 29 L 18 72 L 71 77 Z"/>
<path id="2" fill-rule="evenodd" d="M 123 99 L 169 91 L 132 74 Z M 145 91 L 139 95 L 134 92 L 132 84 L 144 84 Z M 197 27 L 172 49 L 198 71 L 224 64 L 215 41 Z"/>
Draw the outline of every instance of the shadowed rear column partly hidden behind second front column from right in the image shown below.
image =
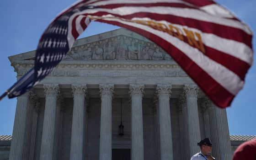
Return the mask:
<path id="1" fill-rule="evenodd" d="M 182 160 L 189 160 L 191 158 L 189 154 L 189 141 L 188 141 L 188 118 L 187 118 L 187 101 L 184 94 L 180 95 L 179 99 L 179 122 L 181 127 L 181 146 L 183 149 Z"/>

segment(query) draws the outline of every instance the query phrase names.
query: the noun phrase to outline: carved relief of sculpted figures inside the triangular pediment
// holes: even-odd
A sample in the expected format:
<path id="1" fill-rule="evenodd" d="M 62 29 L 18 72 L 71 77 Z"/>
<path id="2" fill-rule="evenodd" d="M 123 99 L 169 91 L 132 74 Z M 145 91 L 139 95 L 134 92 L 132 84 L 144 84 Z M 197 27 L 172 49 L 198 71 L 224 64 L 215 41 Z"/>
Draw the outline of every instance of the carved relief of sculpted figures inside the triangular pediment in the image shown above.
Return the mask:
<path id="1" fill-rule="evenodd" d="M 155 43 L 117 36 L 71 48 L 65 60 L 171 60 Z"/>

